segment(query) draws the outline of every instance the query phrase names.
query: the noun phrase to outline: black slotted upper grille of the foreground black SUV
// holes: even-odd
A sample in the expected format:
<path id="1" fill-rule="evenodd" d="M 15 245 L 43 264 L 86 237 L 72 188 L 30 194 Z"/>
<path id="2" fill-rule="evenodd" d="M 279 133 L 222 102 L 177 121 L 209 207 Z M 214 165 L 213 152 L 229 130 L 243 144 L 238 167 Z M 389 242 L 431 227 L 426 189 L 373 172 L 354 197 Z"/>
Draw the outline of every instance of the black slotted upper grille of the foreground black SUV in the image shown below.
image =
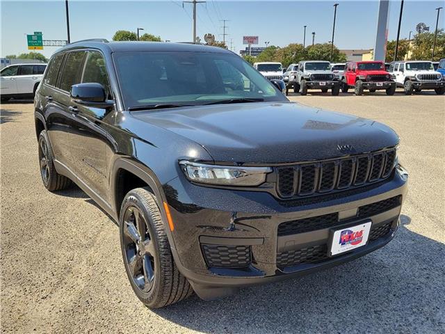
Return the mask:
<path id="1" fill-rule="evenodd" d="M 386 179 L 396 163 L 396 150 L 276 168 L 282 198 L 343 191 Z"/>

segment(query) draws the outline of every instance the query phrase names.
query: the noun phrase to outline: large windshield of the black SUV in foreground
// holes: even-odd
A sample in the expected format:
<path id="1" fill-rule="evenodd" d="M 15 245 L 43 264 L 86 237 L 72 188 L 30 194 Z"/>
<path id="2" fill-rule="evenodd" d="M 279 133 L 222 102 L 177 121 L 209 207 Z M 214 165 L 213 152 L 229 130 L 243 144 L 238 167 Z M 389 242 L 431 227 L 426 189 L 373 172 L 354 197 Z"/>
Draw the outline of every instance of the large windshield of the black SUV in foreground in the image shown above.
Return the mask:
<path id="1" fill-rule="evenodd" d="M 134 51 L 115 52 L 113 58 L 127 108 L 240 99 L 287 101 L 265 77 L 234 54 Z"/>

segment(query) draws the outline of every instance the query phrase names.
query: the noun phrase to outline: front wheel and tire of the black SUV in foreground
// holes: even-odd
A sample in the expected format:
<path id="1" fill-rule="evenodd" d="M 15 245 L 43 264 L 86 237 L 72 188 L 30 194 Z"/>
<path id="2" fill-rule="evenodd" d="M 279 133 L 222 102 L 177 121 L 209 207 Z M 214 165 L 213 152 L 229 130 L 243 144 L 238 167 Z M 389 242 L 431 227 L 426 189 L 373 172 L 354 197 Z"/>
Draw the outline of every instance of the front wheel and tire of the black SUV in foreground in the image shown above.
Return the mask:
<path id="1" fill-rule="evenodd" d="M 127 193 L 120 209 L 119 223 L 125 271 L 140 301 L 148 308 L 162 308 L 193 293 L 173 260 L 165 232 L 168 224 L 163 223 L 149 189 L 136 188 Z"/>

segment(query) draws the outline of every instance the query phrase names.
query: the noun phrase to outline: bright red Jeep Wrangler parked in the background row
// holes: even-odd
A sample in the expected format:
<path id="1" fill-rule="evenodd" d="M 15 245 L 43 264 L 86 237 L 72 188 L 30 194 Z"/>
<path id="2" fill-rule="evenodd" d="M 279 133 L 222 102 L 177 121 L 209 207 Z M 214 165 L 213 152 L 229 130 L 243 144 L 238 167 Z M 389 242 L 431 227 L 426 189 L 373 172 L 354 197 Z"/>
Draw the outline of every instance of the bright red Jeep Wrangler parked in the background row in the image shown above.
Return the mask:
<path id="1" fill-rule="evenodd" d="M 362 95 L 364 89 L 371 93 L 385 89 L 387 95 L 394 95 L 396 91 L 396 82 L 391 80 L 382 61 L 350 61 L 346 63 L 342 81 L 343 93 L 348 93 L 350 87 L 355 88 L 355 95 Z"/>

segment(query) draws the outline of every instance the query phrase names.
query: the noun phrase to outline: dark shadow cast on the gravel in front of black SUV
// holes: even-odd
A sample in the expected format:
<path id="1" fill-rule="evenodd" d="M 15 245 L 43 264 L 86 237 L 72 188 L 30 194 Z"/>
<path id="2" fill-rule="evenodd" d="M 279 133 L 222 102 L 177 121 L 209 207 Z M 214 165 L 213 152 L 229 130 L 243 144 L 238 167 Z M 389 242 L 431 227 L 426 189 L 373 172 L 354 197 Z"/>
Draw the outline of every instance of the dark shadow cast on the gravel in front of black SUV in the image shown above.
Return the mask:
<path id="1" fill-rule="evenodd" d="M 402 215 L 387 246 L 339 267 L 153 312 L 204 333 L 437 333 L 445 328 L 445 246 L 410 222 Z"/>

